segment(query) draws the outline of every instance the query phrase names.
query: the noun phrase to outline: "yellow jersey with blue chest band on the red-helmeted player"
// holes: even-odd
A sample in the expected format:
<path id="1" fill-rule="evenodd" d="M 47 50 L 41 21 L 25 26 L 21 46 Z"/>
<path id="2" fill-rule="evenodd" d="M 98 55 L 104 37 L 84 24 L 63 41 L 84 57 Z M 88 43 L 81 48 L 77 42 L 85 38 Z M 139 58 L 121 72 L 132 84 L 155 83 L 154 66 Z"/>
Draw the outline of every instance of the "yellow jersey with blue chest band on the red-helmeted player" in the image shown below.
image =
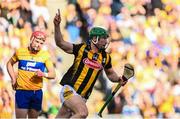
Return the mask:
<path id="1" fill-rule="evenodd" d="M 46 72 L 46 67 L 53 67 L 49 52 L 45 50 L 32 54 L 28 48 L 19 48 L 12 56 L 12 59 L 18 61 L 17 90 L 41 89 L 43 78 L 35 76 L 35 72 L 37 70 Z"/>

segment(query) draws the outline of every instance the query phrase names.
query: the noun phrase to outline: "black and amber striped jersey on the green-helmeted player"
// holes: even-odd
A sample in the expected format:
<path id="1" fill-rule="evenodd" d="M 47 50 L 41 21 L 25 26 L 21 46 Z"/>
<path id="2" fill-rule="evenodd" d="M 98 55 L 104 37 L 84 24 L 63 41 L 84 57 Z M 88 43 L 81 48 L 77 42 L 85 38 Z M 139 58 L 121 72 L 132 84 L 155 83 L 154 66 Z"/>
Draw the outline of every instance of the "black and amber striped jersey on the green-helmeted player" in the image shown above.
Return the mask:
<path id="1" fill-rule="evenodd" d="M 111 68 L 111 57 L 105 51 L 93 53 L 84 43 L 73 44 L 74 62 L 60 84 L 70 85 L 84 98 L 88 98 L 100 72 Z"/>

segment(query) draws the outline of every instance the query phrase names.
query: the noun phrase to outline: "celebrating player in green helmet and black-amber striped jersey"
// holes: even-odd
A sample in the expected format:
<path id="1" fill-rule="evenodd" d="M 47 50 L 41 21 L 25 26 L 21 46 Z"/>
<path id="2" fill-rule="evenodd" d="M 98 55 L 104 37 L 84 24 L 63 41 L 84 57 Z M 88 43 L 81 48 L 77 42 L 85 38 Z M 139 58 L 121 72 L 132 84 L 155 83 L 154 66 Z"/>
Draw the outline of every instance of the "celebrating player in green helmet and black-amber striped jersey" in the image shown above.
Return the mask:
<path id="1" fill-rule="evenodd" d="M 55 42 L 56 45 L 66 53 L 74 54 L 73 65 L 66 72 L 60 84 L 63 88 L 60 93 L 62 107 L 58 118 L 86 118 L 88 109 L 86 100 L 90 96 L 99 73 L 104 69 L 112 82 L 125 85 L 127 79 L 131 78 L 134 70 L 119 77 L 112 68 L 111 57 L 105 52 L 108 42 L 108 32 L 101 27 L 93 27 L 90 30 L 89 44 L 71 44 L 63 40 L 60 30 L 60 11 L 54 17 Z M 127 68 L 126 68 L 127 69 Z"/>

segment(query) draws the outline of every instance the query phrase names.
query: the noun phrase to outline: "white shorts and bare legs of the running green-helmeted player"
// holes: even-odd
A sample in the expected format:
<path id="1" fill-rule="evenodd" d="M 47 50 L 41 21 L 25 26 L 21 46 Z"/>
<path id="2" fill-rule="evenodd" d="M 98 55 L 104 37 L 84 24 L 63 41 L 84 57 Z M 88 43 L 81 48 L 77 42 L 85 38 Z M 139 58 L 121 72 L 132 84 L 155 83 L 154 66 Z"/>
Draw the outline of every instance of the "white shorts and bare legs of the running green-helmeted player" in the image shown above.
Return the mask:
<path id="1" fill-rule="evenodd" d="M 59 111 L 59 114 L 57 116 L 58 118 L 62 115 L 69 116 L 70 114 L 72 114 L 71 112 L 73 112 L 73 117 L 87 117 L 88 110 L 85 100 L 81 96 L 79 96 L 72 87 L 68 85 L 63 86 L 60 93 L 60 98 L 63 106 Z M 71 112 L 69 112 L 69 110 L 71 110 Z"/>

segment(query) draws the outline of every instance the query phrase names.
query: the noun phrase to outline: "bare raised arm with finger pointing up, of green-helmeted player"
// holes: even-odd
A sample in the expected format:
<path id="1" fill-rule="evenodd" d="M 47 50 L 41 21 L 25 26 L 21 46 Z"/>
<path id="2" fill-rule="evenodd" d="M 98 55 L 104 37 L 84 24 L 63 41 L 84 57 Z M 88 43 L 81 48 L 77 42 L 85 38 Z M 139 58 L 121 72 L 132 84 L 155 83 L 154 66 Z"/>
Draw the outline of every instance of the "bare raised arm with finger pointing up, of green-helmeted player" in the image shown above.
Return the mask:
<path id="1" fill-rule="evenodd" d="M 56 13 L 56 16 L 54 17 L 55 42 L 56 42 L 56 45 L 62 50 L 64 50 L 66 53 L 72 54 L 73 44 L 64 41 L 61 34 L 60 23 L 61 23 L 61 16 L 60 16 L 60 10 L 58 9 L 58 13 Z"/>

